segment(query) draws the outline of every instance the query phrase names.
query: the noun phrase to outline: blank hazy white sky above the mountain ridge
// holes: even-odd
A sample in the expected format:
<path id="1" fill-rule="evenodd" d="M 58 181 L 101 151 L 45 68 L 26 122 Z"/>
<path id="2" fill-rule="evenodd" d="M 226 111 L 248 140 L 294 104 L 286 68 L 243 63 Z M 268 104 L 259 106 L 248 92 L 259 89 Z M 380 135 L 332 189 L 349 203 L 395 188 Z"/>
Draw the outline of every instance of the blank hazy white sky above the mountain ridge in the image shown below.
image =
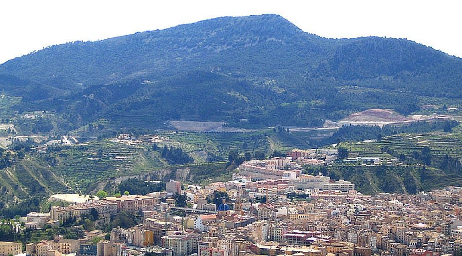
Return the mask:
<path id="1" fill-rule="evenodd" d="M 323 37 L 408 38 L 462 57 L 462 1 L 0 1 L 0 63 L 76 40 L 99 40 L 219 16 L 276 13 Z"/>

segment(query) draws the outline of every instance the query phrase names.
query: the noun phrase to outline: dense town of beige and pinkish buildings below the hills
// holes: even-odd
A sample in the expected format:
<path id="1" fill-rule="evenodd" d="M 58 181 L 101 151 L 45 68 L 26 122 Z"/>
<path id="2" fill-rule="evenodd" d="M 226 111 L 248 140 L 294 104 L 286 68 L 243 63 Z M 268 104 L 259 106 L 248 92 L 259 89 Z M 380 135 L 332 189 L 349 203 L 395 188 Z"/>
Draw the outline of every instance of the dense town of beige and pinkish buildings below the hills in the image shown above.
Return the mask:
<path id="1" fill-rule="evenodd" d="M 302 164 L 325 164 L 336 154 L 293 150 L 244 161 L 227 182 L 171 180 L 146 195 L 76 195 L 84 200 L 9 224 L 16 233 L 76 225 L 84 233 L 2 241 L 0 255 L 461 255 L 462 188 L 369 196 L 351 182 L 303 174 Z"/>

